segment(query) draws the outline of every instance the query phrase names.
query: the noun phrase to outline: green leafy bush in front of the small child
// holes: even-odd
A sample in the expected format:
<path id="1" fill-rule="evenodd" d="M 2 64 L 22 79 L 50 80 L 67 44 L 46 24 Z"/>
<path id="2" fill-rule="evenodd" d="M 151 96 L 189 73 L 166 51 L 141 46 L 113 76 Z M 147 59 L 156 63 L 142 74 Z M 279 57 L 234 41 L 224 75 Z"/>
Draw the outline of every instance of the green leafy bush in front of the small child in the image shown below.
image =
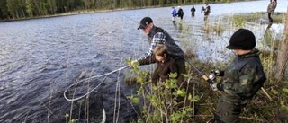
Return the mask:
<path id="1" fill-rule="evenodd" d="M 134 64 L 131 71 L 136 75 L 134 83 L 139 85 L 139 89 L 137 94 L 128 96 L 128 99 L 143 105 L 138 122 L 178 123 L 191 120 L 193 107 L 187 102 L 199 101 L 199 97 L 177 85 L 177 73 L 169 74 L 170 79 L 158 81 L 156 85 L 147 79 L 148 72 L 139 70 L 139 64 Z M 185 80 L 189 76 L 191 75 L 184 75 Z"/>

